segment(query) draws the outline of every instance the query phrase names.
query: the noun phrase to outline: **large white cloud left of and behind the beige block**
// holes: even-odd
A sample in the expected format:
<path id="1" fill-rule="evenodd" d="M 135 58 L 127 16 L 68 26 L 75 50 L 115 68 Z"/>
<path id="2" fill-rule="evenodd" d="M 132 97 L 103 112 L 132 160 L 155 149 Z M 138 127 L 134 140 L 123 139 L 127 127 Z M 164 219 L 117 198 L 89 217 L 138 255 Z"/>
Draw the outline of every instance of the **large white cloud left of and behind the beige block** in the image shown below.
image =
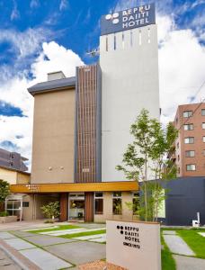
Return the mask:
<path id="1" fill-rule="evenodd" d="M 34 79 L 28 80 L 25 76 L 15 76 L 12 80 L 0 85 L 1 100 L 20 107 L 23 115 L 26 116 L 0 116 L 0 143 L 11 140 L 19 148 L 23 157 L 29 157 L 30 162 L 33 98 L 27 88 L 37 82 L 47 80 L 47 73 L 50 71 L 62 70 L 66 76 L 75 76 L 76 66 L 84 64 L 71 49 L 59 46 L 54 41 L 43 43 L 42 49 L 40 57 L 36 58 L 31 67 Z"/>

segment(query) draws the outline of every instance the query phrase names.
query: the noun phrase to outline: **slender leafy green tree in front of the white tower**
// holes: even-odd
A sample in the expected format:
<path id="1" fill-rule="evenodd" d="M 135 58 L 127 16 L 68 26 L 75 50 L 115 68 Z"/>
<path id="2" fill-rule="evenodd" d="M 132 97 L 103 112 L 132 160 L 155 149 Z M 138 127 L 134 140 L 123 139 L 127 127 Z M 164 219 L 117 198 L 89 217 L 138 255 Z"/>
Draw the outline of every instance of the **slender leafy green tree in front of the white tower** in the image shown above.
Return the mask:
<path id="1" fill-rule="evenodd" d="M 144 212 L 145 220 L 150 220 L 152 216 L 157 215 L 158 211 L 153 209 L 159 207 L 158 202 L 162 197 L 160 181 L 174 176 L 175 168 L 168 166 L 169 162 L 165 157 L 173 148 L 177 131 L 172 124 L 164 130 L 162 124 L 156 119 L 150 119 L 147 110 L 143 109 L 131 125 L 130 134 L 134 140 L 123 154 L 123 166 L 119 165 L 116 168 L 123 171 L 129 180 L 142 182 L 141 190 L 144 198 L 143 202 L 139 202 L 139 211 Z M 147 183 L 148 178 L 156 179 L 154 187 L 152 187 L 153 184 Z M 152 196 L 150 196 L 150 191 Z"/>

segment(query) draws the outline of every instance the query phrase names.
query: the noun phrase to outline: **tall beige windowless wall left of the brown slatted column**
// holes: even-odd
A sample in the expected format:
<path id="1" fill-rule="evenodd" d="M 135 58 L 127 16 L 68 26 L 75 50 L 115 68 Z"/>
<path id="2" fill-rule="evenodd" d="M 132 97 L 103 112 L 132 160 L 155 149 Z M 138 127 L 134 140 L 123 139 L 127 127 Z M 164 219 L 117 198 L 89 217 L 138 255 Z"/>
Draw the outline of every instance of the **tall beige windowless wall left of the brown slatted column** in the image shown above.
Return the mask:
<path id="1" fill-rule="evenodd" d="M 74 182 L 74 135 L 75 90 L 35 94 L 31 184 Z"/>

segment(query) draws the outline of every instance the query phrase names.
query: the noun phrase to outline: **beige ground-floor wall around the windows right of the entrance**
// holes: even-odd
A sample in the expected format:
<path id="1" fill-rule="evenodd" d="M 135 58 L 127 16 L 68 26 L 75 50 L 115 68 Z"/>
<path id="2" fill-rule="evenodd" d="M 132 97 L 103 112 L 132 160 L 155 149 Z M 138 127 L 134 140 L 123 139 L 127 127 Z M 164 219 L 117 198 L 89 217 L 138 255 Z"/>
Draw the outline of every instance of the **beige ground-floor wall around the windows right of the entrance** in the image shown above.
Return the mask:
<path id="1" fill-rule="evenodd" d="M 94 222 L 105 222 L 106 220 L 132 220 L 132 211 L 129 210 L 125 202 L 132 202 L 131 192 L 122 192 L 122 214 L 112 214 L 112 193 L 103 193 L 103 215 L 94 215 Z"/>

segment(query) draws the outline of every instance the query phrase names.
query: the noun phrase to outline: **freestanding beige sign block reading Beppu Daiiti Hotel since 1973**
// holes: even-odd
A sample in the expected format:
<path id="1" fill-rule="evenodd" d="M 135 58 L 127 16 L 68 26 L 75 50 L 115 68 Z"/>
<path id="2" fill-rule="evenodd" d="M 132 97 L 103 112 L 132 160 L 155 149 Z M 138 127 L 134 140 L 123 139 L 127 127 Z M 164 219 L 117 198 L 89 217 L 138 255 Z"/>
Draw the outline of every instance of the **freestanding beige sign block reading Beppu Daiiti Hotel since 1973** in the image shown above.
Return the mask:
<path id="1" fill-rule="evenodd" d="M 107 220 L 106 259 L 129 270 L 161 270 L 160 225 Z"/>

